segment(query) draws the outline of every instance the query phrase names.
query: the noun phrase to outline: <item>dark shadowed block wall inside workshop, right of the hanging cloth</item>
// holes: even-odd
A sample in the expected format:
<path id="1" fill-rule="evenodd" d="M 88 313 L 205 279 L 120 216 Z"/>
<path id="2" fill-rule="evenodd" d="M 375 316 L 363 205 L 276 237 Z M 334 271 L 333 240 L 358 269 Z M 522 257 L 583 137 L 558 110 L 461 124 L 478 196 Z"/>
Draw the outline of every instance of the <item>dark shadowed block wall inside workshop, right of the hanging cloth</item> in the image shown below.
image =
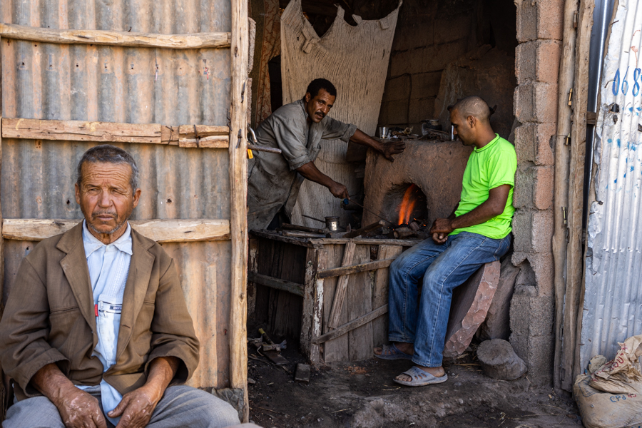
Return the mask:
<path id="1" fill-rule="evenodd" d="M 444 68 L 485 44 L 514 54 L 513 0 L 404 0 L 379 124 L 420 133 L 422 120 L 439 116 L 435 98 Z"/>

